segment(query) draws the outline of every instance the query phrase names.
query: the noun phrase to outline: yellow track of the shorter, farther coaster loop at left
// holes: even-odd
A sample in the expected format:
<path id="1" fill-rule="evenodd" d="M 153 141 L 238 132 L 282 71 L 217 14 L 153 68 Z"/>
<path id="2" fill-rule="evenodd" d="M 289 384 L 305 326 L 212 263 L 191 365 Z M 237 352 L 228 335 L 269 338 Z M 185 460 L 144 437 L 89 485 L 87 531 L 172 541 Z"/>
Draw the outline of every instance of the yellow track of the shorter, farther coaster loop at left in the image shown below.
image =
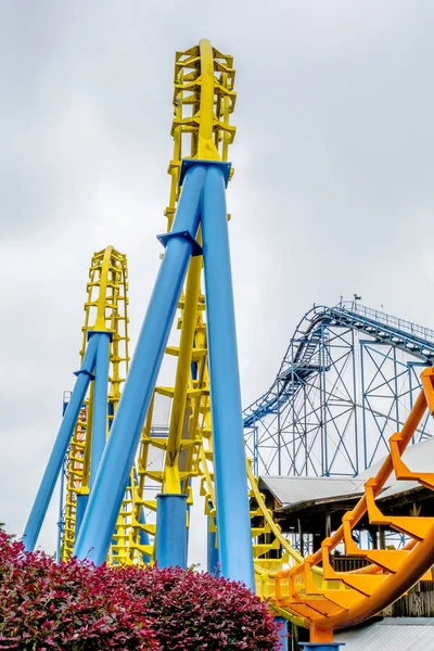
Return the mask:
<path id="1" fill-rule="evenodd" d="M 113 246 L 93 254 L 89 269 L 85 324 L 80 358 L 82 360 L 89 332 L 110 332 L 110 390 L 114 418 L 120 399 L 120 387 L 128 371 L 128 270 L 126 256 Z M 93 383 L 75 426 L 66 459 L 65 531 L 62 559 L 71 558 L 75 542 L 77 496 L 89 493 Z"/>

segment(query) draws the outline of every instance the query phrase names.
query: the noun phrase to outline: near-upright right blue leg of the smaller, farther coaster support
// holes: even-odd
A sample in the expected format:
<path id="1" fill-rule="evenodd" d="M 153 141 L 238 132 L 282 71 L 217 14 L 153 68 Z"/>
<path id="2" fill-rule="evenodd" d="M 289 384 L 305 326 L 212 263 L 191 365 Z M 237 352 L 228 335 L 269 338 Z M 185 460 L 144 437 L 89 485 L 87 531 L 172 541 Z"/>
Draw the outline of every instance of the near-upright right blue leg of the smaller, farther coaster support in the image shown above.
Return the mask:
<path id="1" fill-rule="evenodd" d="M 90 333 L 90 339 L 98 336 L 98 349 L 93 387 L 92 444 L 90 457 L 90 490 L 97 476 L 107 436 L 107 398 L 108 398 L 108 357 L 110 332 Z"/>

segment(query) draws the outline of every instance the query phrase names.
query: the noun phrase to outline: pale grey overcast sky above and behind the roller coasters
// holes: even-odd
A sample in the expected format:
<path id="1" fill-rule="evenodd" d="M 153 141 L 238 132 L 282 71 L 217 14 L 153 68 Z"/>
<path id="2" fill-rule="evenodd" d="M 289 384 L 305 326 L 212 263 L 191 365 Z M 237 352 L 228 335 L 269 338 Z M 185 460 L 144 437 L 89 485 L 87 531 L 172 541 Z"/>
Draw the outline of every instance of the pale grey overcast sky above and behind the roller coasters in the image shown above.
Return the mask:
<path id="1" fill-rule="evenodd" d="M 159 265 L 176 50 L 234 56 L 230 238 L 243 404 L 314 303 L 434 326 L 431 0 L 0 2 L 0 521 L 21 534 L 79 363 L 94 251 Z M 40 545 L 55 547 L 56 505 Z M 199 553 L 200 559 L 201 554 Z M 196 559 L 192 559 L 196 560 Z"/>

